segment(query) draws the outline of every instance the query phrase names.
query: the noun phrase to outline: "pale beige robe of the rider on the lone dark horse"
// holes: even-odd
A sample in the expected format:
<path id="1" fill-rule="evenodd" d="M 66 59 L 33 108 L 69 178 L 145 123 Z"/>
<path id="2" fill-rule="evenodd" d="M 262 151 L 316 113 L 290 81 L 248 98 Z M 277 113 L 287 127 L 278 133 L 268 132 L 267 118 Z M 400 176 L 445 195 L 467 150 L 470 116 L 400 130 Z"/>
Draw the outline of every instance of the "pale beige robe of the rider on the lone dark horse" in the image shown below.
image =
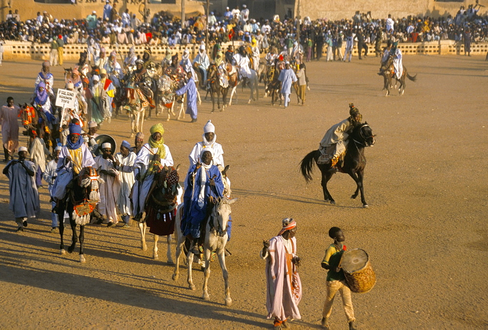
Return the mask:
<path id="1" fill-rule="evenodd" d="M 326 164 L 329 160 L 337 162 L 339 156 L 346 151 L 348 143 L 346 139 L 349 136 L 347 132 L 350 129 L 352 129 L 352 124 L 347 118 L 333 125 L 325 132 L 322 141 L 320 141 L 319 151 L 321 155 L 317 160 L 317 164 Z"/>

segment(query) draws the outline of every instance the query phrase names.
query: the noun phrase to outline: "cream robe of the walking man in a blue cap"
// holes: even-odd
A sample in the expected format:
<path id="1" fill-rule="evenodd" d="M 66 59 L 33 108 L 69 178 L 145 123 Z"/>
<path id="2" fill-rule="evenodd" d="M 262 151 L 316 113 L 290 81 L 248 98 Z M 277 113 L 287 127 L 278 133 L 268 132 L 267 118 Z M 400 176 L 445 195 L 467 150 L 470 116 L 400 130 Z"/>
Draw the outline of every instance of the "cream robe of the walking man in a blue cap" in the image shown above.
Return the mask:
<path id="1" fill-rule="evenodd" d="M 119 212 L 132 215 L 132 209 L 130 207 L 130 192 L 134 186 L 134 161 L 136 160 L 136 154 L 130 152 L 127 157 L 123 157 L 121 153 L 115 155 L 115 159 L 121 163 L 119 169 L 119 181 L 121 184 L 120 193 L 117 196 L 117 208 Z"/>

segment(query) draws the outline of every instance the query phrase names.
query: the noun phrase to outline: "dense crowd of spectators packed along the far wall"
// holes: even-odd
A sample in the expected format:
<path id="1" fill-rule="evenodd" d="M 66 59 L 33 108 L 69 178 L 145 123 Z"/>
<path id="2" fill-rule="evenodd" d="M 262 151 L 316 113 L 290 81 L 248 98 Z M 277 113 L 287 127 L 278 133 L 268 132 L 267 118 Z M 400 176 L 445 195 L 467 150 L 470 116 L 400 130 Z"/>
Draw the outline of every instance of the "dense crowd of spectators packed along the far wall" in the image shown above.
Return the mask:
<path id="1" fill-rule="evenodd" d="M 267 49 L 285 46 L 291 37 L 296 39 L 297 22 L 293 18 L 250 19 L 249 10 L 245 8 L 227 8 L 224 14 L 208 17 L 210 43 L 222 43 L 230 40 L 251 41 L 256 38 L 260 48 Z M 20 16 L 10 15 L 0 24 L 0 39 L 50 43 L 60 35 L 65 44 L 86 43 L 93 37 L 106 44 L 148 44 L 169 45 L 198 44 L 205 40 L 205 16 L 188 18 L 182 27 L 181 19 L 174 18 L 167 12 L 159 12 L 152 18 L 144 18 L 143 22 L 128 9 L 122 14 L 108 1 L 99 16 L 94 11 L 86 19 L 53 19 L 47 12 L 33 19 L 20 21 Z M 468 10 L 461 7 L 452 17 L 432 18 L 429 16 L 408 16 L 404 18 L 373 19 L 371 12 L 356 14 L 351 19 L 311 20 L 301 19 L 300 43 L 306 49 L 322 44 L 335 43 L 349 34 L 356 35 L 359 31 L 365 43 L 379 40 L 398 40 L 399 42 L 424 42 L 436 40 L 461 41 L 468 36 L 474 42 L 488 41 L 488 18 L 478 16 L 478 10 L 469 6 Z M 339 40 L 338 40 L 339 39 Z M 342 41 L 341 41 L 342 42 Z"/>

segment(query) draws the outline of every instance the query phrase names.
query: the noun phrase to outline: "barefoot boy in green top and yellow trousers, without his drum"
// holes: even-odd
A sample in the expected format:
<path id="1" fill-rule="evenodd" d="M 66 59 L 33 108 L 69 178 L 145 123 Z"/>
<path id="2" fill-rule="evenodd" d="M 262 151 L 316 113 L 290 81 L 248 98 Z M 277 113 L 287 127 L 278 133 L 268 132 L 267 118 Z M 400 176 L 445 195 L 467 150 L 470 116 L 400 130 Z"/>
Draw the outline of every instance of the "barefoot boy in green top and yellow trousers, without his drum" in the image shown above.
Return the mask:
<path id="1" fill-rule="evenodd" d="M 344 311 L 346 312 L 347 322 L 349 323 L 349 330 L 356 329 L 354 321 L 354 310 L 352 309 L 351 290 L 347 286 L 346 278 L 343 270 L 339 267 L 342 254 L 346 251 L 344 241 L 344 233 L 338 227 L 329 229 L 329 236 L 334 240 L 325 251 L 324 260 L 321 266 L 328 270 L 327 272 L 327 292 L 324 303 L 324 311 L 322 312 L 322 327 L 329 329 L 327 321 L 332 312 L 332 304 L 334 303 L 334 296 L 337 291 L 341 292 L 342 301 L 344 304 Z"/>

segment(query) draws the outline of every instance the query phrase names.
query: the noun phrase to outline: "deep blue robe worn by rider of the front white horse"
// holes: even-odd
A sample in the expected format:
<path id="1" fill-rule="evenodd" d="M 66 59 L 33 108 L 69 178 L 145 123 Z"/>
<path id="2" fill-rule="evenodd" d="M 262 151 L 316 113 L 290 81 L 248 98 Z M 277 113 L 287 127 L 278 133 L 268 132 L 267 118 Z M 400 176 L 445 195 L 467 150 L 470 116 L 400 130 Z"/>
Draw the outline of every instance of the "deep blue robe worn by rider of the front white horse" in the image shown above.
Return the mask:
<path id="1" fill-rule="evenodd" d="M 197 165 L 193 165 L 188 174 L 186 175 L 186 189 L 183 195 L 183 217 L 181 223 L 181 229 L 183 235 L 191 235 L 193 238 L 200 237 L 201 225 L 203 220 L 205 220 L 207 212 L 208 197 L 213 196 L 222 197 L 224 194 L 224 183 L 222 182 L 222 175 L 217 166 L 212 165 L 210 169 L 206 170 L 208 177 L 213 177 L 215 181 L 215 187 L 210 187 L 209 183 L 205 183 L 205 200 L 203 207 L 200 208 L 198 205 L 198 195 L 200 194 L 200 174 L 201 171 L 198 170 L 195 174 L 195 185 L 191 182 L 191 176 L 193 171 L 195 171 Z"/>

